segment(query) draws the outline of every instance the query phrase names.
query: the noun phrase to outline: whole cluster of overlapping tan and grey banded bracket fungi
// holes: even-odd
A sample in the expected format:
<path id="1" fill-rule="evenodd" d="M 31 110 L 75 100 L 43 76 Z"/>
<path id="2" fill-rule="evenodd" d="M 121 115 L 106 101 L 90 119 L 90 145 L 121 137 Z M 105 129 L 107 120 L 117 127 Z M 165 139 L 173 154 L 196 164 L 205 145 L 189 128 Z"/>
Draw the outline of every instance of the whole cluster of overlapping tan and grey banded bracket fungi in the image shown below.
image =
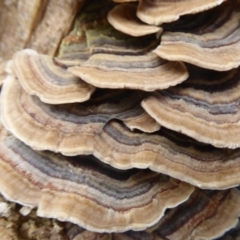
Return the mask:
<path id="1" fill-rule="evenodd" d="M 240 216 L 240 1 L 116 2 L 87 1 L 57 57 L 8 63 L 0 191 L 79 225 L 72 239 L 225 239 Z"/>

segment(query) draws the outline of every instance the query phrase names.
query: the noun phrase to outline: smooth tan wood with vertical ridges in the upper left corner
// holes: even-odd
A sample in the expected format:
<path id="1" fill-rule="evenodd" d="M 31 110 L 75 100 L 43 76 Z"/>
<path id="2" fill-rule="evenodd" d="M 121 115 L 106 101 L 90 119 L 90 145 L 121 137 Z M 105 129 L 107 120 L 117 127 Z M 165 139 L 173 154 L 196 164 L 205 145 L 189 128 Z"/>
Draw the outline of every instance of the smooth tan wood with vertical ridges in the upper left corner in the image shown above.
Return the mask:
<path id="1" fill-rule="evenodd" d="M 83 0 L 0 0 L 0 82 L 6 62 L 23 48 L 55 55 Z"/>

